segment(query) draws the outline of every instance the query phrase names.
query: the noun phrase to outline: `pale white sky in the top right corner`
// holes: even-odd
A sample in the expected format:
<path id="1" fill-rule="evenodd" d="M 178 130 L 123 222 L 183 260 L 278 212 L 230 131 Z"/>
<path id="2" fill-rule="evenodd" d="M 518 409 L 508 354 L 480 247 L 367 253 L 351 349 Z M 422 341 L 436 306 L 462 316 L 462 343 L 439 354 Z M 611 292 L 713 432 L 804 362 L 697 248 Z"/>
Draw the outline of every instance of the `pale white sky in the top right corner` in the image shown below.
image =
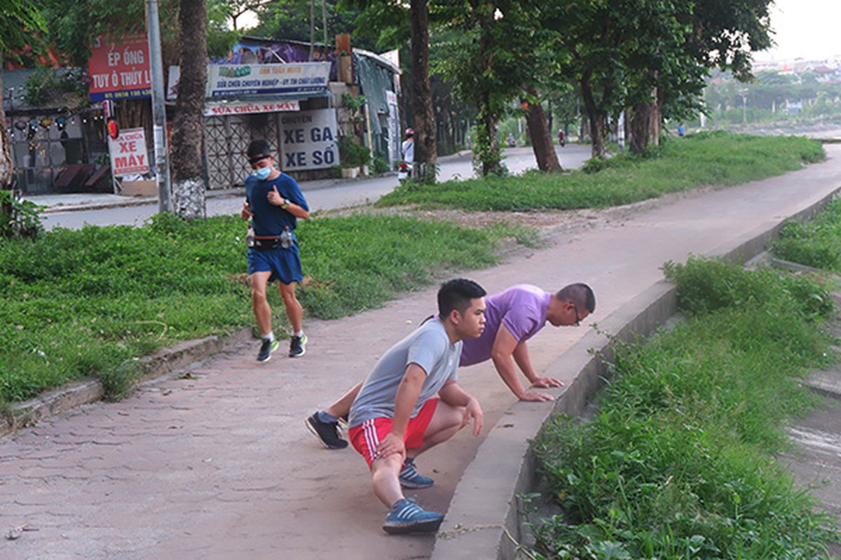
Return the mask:
<path id="1" fill-rule="evenodd" d="M 771 27 L 777 46 L 756 53 L 755 60 L 841 55 L 841 0 L 775 0 Z"/>

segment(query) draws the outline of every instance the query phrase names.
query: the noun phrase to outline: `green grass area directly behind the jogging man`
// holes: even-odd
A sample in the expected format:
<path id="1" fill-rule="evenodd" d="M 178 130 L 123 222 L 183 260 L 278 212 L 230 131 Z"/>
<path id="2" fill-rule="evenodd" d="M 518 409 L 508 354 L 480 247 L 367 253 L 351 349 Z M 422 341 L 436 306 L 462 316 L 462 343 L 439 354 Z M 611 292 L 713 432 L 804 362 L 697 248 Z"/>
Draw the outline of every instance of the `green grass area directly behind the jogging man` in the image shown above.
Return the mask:
<path id="1" fill-rule="evenodd" d="M 157 216 L 143 228 L 58 228 L 3 242 L 0 406 L 92 375 L 118 396 L 136 376 L 137 358 L 252 325 L 245 230 L 238 217 Z M 493 265 L 502 237 L 373 216 L 314 219 L 298 233 L 309 276 L 300 300 L 321 318 L 381 306 L 442 270 Z M 275 323 L 285 324 L 277 290 L 270 301 Z"/>

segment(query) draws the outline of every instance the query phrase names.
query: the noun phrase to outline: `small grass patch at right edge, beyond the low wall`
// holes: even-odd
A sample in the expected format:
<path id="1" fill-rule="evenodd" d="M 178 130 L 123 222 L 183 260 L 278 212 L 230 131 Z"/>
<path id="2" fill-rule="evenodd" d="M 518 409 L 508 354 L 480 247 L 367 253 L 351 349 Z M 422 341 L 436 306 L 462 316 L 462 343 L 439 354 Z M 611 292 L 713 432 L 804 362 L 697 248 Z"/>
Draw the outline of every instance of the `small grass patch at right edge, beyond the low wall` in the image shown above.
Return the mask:
<path id="1" fill-rule="evenodd" d="M 770 252 L 778 259 L 841 275 L 841 199 L 808 222 L 786 222 Z"/>

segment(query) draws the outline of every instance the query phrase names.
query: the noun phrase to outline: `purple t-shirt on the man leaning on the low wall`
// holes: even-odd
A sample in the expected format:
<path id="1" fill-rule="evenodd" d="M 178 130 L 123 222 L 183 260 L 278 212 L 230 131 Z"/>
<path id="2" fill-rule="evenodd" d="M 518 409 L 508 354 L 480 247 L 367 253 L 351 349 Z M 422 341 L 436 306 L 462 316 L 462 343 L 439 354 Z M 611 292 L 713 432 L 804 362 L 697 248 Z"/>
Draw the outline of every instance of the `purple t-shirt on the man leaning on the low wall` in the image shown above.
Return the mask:
<path id="1" fill-rule="evenodd" d="M 537 286 L 513 285 L 499 294 L 484 298 L 484 332 L 479 338 L 465 338 L 459 365 L 479 364 L 490 359 L 500 325 L 514 335 L 517 343 L 532 338 L 546 324 L 546 311 L 552 294 Z"/>

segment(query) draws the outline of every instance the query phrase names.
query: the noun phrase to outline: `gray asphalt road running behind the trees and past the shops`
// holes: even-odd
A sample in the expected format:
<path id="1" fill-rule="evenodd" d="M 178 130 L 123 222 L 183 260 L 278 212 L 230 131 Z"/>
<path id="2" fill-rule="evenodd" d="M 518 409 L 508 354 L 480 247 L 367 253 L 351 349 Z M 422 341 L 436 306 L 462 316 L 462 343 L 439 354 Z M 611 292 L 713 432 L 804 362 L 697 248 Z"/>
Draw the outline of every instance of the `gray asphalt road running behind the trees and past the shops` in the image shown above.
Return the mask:
<path id="1" fill-rule="evenodd" d="M 560 148 L 555 146 L 558 158 L 564 169 L 578 168 L 584 160 L 590 158 L 590 146 L 567 144 Z M 537 164 L 531 148 L 509 148 L 504 151 L 505 165 L 511 173 L 519 174 L 525 170 L 536 169 Z M 440 161 L 439 181 L 465 179 L 473 176 L 472 155 L 469 153 L 447 156 Z M 362 180 L 335 181 L 305 181 L 301 183 L 313 211 L 331 210 L 335 208 L 353 207 L 376 201 L 380 196 L 392 191 L 397 184 L 395 175 L 374 177 Z M 231 191 L 235 193 L 237 191 Z M 114 198 L 113 195 L 108 195 Z M 33 196 L 30 200 L 45 204 L 46 197 Z M 213 196 L 207 200 L 209 216 L 234 214 L 240 212 L 242 198 L 236 196 Z M 128 207 L 108 207 L 96 210 L 81 210 L 72 212 L 49 212 L 44 215 L 44 227 L 52 228 L 82 228 L 85 224 L 96 226 L 105 225 L 134 225 L 139 226 L 146 219 L 157 213 L 157 204 L 149 199 L 149 204 Z"/>

